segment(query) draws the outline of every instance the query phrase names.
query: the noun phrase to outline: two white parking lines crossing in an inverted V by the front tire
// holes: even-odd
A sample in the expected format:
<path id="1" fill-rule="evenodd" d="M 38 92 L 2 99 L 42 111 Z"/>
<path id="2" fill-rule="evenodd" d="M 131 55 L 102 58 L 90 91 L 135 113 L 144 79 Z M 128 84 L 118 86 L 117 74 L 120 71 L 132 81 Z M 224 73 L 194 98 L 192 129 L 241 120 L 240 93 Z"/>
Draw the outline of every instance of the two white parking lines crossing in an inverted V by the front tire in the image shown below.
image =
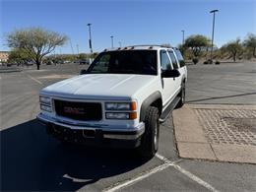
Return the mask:
<path id="1" fill-rule="evenodd" d="M 109 188 L 106 188 L 103 190 L 103 192 L 114 192 L 117 190 L 120 190 L 122 188 L 131 186 L 157 172 L 160 172 L 161 170 L 166 169 L 169 166 L 173 166 L 176 170 L 178 170 L 179 172 L 183 173 L 185 176 L 187 176 L 188 178 L 194 180 L 195 182 L 197 182 L 198 184 L 202 185 L 203 187 L 209 189 L 210 191 L 214 191 L 214 192 L 218 192 L 217 189 L 215 189 L 212 185 L 210 185 L 209 183 L 207 183 L 206 181 L 202 180 L 201 178 L 199 178 L 198 176 L 194 175 L 193 173 L 189 172 L 188 170 L 185 170 L 184 168 L 182 168 L 181 166 L 177 165 L 176 163 L 179 162 L 180 160 L 176 160 L 176 161 L 171 161 L 168 160 L 166 158 L 164 158 L 163 156 L 157 154 L 156 157 L 159 160 L 162 160 L 163 163 L 160 164 L 157 167 L 154 167 L 152 169 L 150 169 L 149 171 L 143 172 L 141 174 L 139 174 L 138 176 L 135 176 L 134 178 L 130 178 L 128 180 L 125 180 L 124 182 L 121 183 L 117 183 L 114 186 L 111 186 Z"/>

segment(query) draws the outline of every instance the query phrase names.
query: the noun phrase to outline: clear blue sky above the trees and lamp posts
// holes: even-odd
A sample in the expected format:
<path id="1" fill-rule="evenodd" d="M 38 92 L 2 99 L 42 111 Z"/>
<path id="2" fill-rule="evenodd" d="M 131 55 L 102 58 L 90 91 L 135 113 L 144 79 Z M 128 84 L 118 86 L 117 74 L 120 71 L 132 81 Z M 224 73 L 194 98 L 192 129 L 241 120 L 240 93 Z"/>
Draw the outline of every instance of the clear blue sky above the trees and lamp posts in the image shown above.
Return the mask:
<path id="1" fill-rule="evenodd" d="M 172 46 L 185 37 L 203 34 L 211 38 L 213 9 L 215 44 L 248 32 L 256 33 L 256 0 L 0 0 L 0 50 L 9 50 L 5 37 L 19 29 L 41 27 L 66 34 L 67 43 L 55 53 L 90 52 L 92 24 L 94 51 L 111 46 L 162 44 Z"/>

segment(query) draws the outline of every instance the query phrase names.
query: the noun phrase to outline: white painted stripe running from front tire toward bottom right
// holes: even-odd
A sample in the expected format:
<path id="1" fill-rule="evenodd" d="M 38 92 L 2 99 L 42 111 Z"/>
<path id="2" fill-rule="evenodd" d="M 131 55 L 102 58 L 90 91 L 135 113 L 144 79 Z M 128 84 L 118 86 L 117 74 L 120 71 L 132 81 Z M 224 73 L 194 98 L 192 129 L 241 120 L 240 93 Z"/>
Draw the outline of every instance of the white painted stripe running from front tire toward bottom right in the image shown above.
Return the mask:
<path id="1" fill-rule="evenodd" d="M 168 163 L 169 165 L 173 166 L 176 170 L 180 171 L 181 173 L 183 173 L 184 175 L 186 175 L 190 179 L 194 180 L 198 184 L 200 184 L 200 185 L 204 186 L 205 188 L 209 189 L 210 191 L 218 192 L 218 190 L 216 188 L 214 188 L 212 185 L 210 185 L 206 181 L 202 180 L 198 176 L 194 175 L 193 173 L 189 172 L 188 170 L 185 170 L 184 168 L 181 168 L 181 166 L 171 162 L 170 160 L 167 160 L 166 158 L 164 158 L 163 156 L 160 156 L 159 154 L 157 154 L 156 157 L 160 160 L 163 160 L 165 163 Z"/>

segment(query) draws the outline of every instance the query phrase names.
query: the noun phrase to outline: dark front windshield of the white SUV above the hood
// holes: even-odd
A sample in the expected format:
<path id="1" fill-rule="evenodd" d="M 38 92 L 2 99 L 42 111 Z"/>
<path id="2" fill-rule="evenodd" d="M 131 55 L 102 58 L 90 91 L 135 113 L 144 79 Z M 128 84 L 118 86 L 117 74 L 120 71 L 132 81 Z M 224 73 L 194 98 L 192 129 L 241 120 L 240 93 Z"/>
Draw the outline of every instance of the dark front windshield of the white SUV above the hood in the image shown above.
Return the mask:
<path id="1" fill-rule="evenodd" d="M 157 75 L 157 50 L 102 52 L 89 67 L 89 74 Z"/>

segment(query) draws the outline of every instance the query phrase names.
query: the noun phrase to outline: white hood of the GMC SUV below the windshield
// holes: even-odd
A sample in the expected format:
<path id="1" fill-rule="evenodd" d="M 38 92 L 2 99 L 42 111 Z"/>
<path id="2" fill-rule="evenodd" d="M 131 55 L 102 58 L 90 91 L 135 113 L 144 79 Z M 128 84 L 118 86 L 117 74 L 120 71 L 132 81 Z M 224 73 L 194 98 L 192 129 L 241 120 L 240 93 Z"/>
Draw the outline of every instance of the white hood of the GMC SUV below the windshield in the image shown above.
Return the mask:
<path id="1" fill-rule="evenodd" d="M 44 88 L 41 94 L 77 98 L 130 99 L 140 89 L 148 87 L 158 76 L 130 74 L 86 74 Z"/>

